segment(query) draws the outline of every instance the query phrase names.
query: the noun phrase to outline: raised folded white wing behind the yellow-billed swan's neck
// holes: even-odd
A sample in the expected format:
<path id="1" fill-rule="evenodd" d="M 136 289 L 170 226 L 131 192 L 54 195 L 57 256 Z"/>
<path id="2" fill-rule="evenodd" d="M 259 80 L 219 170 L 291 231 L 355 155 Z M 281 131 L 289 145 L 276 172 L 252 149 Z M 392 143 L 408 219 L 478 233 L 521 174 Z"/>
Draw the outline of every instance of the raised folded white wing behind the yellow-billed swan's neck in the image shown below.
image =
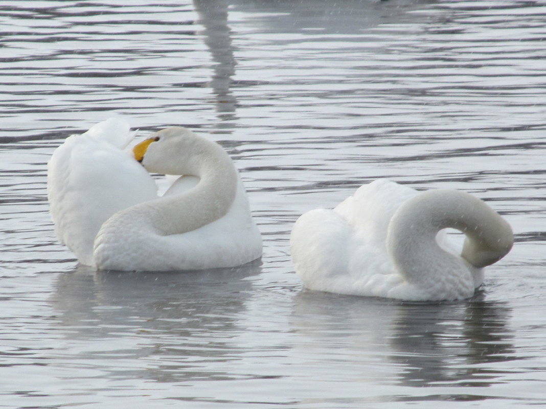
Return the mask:
<path id="1" fill-rule="evenodd" d="M 138 162 L 94 136 L 68 137 L 48 163 L 55 232 L 84 264 L 93 264 L 93 240 L 105 220 L 156 197 L 153 179 Z"/>

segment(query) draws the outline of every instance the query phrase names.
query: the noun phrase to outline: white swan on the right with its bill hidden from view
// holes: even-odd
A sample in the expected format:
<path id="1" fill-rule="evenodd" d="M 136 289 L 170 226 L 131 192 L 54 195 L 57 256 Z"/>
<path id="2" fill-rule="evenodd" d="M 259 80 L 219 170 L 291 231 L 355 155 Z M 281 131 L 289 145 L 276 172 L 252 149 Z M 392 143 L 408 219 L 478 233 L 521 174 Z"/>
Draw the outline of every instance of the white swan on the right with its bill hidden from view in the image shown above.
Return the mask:
<path id="1" fill-rule="evenodd" d="M 442 229 L 466 235 L 460 255 Z M 476 197 L 419 193 L 380 179 L 335 209 L 300 216 L 290 236 L 295 271 L 311 290 L 403 300 L 471 297 L 482 267 L 505 256 L 512 229 Z"/>

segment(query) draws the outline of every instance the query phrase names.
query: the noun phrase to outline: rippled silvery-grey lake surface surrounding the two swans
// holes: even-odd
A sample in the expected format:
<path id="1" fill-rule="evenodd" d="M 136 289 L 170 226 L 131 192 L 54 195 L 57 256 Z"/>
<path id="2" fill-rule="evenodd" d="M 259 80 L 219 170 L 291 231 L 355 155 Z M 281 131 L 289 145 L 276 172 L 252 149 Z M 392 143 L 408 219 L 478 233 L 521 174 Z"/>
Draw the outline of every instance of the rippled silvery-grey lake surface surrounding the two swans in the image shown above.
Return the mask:
<path id="1" fill-rule="evenodd" d="M 0 0 L 0 29 L 0 407 L 546 405 L 546 2 Z M 262 263 L 78 267 L 46 162 L 112 113 L 221 143 Z M 380 177 L 506 217 L 482 292 L 302 288 L 293 222 Z"/>

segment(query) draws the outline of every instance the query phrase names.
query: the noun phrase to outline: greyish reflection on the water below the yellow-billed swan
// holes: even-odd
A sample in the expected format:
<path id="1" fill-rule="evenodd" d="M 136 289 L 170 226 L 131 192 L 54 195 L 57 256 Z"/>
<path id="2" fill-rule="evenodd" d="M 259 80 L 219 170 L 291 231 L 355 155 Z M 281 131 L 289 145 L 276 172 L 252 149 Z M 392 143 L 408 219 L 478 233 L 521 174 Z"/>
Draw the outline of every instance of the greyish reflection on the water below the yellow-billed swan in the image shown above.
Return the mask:
<path id="1" fill-rule="evenodd" d="M 66 347 L 80 351 L 70 362 L 82 368 L 117 379 L 225 379 L 237 359 L 238 317 L 261 270 L 260 262 L 135 273 L 80 265 L 60 275 L 50 303 Z"/>

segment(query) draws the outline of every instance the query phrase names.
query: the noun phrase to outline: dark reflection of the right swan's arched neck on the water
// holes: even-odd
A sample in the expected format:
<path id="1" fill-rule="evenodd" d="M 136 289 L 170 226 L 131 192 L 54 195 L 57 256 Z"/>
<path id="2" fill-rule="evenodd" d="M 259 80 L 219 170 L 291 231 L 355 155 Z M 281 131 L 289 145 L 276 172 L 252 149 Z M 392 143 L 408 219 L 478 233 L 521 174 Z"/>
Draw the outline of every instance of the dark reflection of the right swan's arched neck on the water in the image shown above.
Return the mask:
<path id="1" fill-rule="evenodd" d="M 390 359 L 408 386 L 486 387 L 503 372 L 491 363 L 518 359 L 507 302 L 402 305 L 391 322 Z"/>

